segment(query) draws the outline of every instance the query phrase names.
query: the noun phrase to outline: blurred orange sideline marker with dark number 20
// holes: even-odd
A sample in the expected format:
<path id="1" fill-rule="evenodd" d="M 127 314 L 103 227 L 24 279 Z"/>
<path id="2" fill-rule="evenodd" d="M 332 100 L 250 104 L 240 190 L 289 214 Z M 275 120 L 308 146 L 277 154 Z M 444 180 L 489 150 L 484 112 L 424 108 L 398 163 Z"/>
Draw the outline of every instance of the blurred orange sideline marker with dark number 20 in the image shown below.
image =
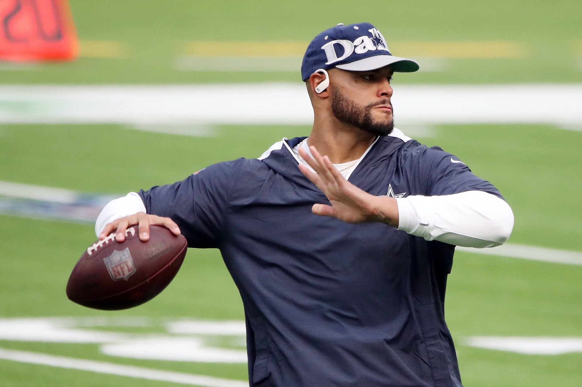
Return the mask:
<path id="1" fill-rule="evenodd" d="M 72 60 L 77 55 L 68 0 L 3 0 L 0 20 L 0 60 Z"/>

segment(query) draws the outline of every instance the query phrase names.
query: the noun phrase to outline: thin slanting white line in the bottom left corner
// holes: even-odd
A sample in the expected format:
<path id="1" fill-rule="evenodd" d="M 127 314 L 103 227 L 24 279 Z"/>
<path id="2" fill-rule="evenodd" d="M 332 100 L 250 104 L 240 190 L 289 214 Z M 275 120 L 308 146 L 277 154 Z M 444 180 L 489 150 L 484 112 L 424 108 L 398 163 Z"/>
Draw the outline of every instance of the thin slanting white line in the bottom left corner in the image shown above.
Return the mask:
<path id="1" fill-rule="evenodd" d="M 69 368 L 72 370 L 98 372 L 100 374 L 119 375 L 130 378 L 157 380 L 203 387 L 248 387 L 249 382 L 209 377 L 205 375 L 186 374 L 183 372 L 152 370 L 151 368 L 123 366 L 121 364 L 74 359 L 44 353 L 24 352 L 0 349 L 0 359 L 19 361 L 20 363 L 41 364 L 43 366 Z"/>

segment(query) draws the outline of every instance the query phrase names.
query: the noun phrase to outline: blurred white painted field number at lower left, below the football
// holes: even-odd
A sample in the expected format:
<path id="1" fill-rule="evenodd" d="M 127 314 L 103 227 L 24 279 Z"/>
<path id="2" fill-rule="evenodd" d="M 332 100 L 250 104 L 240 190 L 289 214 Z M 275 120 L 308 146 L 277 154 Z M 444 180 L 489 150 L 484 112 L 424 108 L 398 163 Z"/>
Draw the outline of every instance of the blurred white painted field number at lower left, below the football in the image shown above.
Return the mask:
<path id="1" fill-rule="evenodd" d="M 116 331 L 103 330 L 116 327 Z M 119 327 L 125 332 L 119 332 Z M 139 327 L 139 333 L 132 332 Z M 143 333 L 150 327 L 151 334 Z M 164 327 L 166 334 L 153 333 Z M 91 329 L 100 328 L 100 329 Z M 158 329 L 157 329 L 158 328 Z M 132 359 L 246 363 L 244 321 L 145 318 L 5 318 L 0 340 L 95 343 L 102 353 Z"/>

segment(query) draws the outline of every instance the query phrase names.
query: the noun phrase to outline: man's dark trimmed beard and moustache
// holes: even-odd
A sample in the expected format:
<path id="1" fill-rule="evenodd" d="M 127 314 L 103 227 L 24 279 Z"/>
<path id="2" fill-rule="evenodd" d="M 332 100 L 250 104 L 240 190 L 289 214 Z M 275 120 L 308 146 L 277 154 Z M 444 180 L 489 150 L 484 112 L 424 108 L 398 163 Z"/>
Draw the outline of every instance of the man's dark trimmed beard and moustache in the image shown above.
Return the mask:
<path id="1" fill-rule="evenodd" d="M 394 120 L 388 122 L 374 121 L 371 110 L 378 105 L 392 106 L 388 98 L 361 106 L 347 99 L 338 89 L 334 89 L 332 92 L 331 109 L 336 119 L 373 135 L 386 136 L 392 133 Z"/>

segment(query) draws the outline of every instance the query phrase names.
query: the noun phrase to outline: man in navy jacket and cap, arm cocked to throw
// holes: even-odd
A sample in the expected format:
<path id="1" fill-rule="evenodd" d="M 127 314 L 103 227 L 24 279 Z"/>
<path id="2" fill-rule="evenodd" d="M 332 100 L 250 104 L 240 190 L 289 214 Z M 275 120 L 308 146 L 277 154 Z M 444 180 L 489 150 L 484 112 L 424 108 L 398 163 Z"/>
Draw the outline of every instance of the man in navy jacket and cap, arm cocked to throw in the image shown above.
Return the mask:
<path id="1" fill-rule="evenodd" d="M 103 239 L 165 225 L 218 248 L 243 299 L 251 386 L 461 386 L 443 308 L 455 245 L 505 242 L 513 214 L 457 157 L 393 127 L 393 56 L 369 23 L 329 28 L 301 66 L 307 138 L 109 203 Z"/>

